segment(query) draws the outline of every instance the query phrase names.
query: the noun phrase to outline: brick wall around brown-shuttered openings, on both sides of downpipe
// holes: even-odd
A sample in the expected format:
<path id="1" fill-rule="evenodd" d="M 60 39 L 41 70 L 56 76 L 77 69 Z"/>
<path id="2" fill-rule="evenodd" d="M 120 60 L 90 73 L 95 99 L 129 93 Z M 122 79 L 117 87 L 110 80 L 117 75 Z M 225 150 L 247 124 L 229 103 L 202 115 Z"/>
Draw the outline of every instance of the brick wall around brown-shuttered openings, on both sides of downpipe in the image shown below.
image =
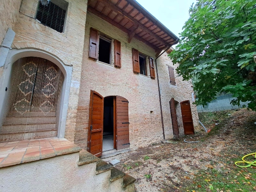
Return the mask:
<path id="1" fill-rule="evenodd" d="M 121 42 L 121 68 L 115 68 L 113 65 L 103 64 L 88 58 L 91 27 Z M 130 148 L 135 149 L 139 146 L 146 146 L 163 140 L 157 79 L 149 77 L 149 70 L 148 76 L 134 73 L 132 66 L 132 48 L 136 48 L 139 52 L 153 58 L 155 58 L 156 53 L 152 48 L 135 38 L 132 39 L 130 44 L 127 39 L 126 33 L 88 12 L 74 140 L 82 148 L 87 147 L 90 90 L 95 90 L 104 97 L 119 95 L 129 101 Z M 179 102 L 191 100 L 193 89 L 191 82 L 182 82 L 180 78 L 177 78 L 177 86 L 171 86 L 167 65 L 172 65 L 172 62 L 164 54 L 158 59 L 158 70 L 162 87 L 164 128 L 166 138 L 169 139 L 173 136 L 169 101 L 172 97 Z M 194 113 L 196 108 L 192 106 L 192 110 L 196 121 L 197 113 Z M 150 111 L 153 111 L 153 113 L 150 113 Z M 181 117 L 181 115 L 179 116 Z M 184 133 L 182 127 L 181 123 L 181 134 Z"/>

